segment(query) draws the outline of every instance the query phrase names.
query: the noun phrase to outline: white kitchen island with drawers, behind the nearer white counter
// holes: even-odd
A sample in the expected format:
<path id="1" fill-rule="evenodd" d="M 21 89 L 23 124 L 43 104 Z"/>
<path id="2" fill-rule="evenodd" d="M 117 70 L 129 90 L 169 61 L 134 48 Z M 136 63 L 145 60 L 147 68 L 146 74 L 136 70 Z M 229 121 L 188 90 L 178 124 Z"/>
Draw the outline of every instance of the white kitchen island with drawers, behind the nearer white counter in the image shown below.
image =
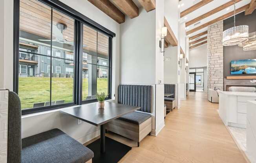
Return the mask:
<path id="1" fill-rule="evenodd" d="M 219 116 L 226 126 L 246 128 L 248 100 L 256 100 L 256 93 L 229 91 L 219 93 Z"/>

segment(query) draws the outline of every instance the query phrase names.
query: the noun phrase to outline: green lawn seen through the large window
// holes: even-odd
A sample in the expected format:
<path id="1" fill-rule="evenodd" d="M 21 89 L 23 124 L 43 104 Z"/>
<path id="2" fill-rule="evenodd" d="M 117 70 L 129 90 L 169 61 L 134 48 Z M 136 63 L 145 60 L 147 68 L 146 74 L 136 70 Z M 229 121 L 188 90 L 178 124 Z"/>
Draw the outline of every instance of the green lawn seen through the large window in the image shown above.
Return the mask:
<path id="1" fill-rule="evenodd" d="M 108 79 L 97 78 L 97 92 L 108 94 Z M 21 108 L 32 108 L 33 103 L 50 101 L 50 78 L 46 77 L 20 77 L 19 97 Z M 82 99 L 88 96 L 88 79 L 82 82 Z M 52 78 L 52 101 L 65 100 L 65 103 L 73 101 L 73 78 Z"/>

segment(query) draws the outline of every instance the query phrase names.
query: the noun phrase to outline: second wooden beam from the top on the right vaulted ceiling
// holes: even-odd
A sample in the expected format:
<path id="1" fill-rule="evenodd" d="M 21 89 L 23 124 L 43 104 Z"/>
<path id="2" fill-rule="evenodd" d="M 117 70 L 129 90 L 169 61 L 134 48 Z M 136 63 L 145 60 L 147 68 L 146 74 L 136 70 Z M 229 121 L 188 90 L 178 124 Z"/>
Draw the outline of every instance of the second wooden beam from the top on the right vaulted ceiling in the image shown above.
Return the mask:
<path id="1" fill-rule="evenodd" d="M 241 0 L 236 0 L 236 3 L 240 2 Z M 189 25 L 192 25 L 196 22 L 199 22 L 200 20 L 204 19 L 204 18 L 207 18 L 208 16 L 211 16 L 212 14 L 215 14 L 215 13 L 218 13 L 219 11 L 231 6 L 231 5 L 234 5 L 234 0 L 230 0 L 229 2 L 227 2 L 226 4 L 223 4 L 205 14 L 202 14 L 201 16 L 198 16 L 197 18 L 194 18 L 193 20 L 190 20 L 188 22 L 186 22 L 186 27 L 189 26 Z"/>

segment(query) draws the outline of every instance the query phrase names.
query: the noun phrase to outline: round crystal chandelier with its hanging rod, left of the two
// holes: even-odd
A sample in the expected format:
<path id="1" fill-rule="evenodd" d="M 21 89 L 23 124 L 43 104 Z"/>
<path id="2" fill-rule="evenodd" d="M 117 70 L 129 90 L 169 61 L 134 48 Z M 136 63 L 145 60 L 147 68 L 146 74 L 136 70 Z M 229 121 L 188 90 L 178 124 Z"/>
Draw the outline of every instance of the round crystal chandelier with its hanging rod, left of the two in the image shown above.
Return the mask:
<path id="1" fill-rule="evenodd" d="M 236 26 L 236 0 L 234 0 L 234 27 L 223 32 L 222 44 L 223 46 L 238 45 L 248 40 L 248 33 L 248 25 Z"/>

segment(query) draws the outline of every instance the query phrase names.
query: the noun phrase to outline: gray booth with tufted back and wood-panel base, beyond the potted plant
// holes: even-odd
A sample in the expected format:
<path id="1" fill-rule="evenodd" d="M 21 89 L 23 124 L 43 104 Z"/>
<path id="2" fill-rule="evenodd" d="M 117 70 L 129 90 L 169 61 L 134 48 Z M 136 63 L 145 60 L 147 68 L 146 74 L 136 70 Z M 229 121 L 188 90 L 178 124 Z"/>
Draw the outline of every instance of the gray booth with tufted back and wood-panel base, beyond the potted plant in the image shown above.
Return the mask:
<path id="1" fill-rule="evenodd" d="M 152 86 L 119 85 L 118 103 L 141 107 L 106 124 L 106 129 L 139 142 L 152 130 Z"/>

